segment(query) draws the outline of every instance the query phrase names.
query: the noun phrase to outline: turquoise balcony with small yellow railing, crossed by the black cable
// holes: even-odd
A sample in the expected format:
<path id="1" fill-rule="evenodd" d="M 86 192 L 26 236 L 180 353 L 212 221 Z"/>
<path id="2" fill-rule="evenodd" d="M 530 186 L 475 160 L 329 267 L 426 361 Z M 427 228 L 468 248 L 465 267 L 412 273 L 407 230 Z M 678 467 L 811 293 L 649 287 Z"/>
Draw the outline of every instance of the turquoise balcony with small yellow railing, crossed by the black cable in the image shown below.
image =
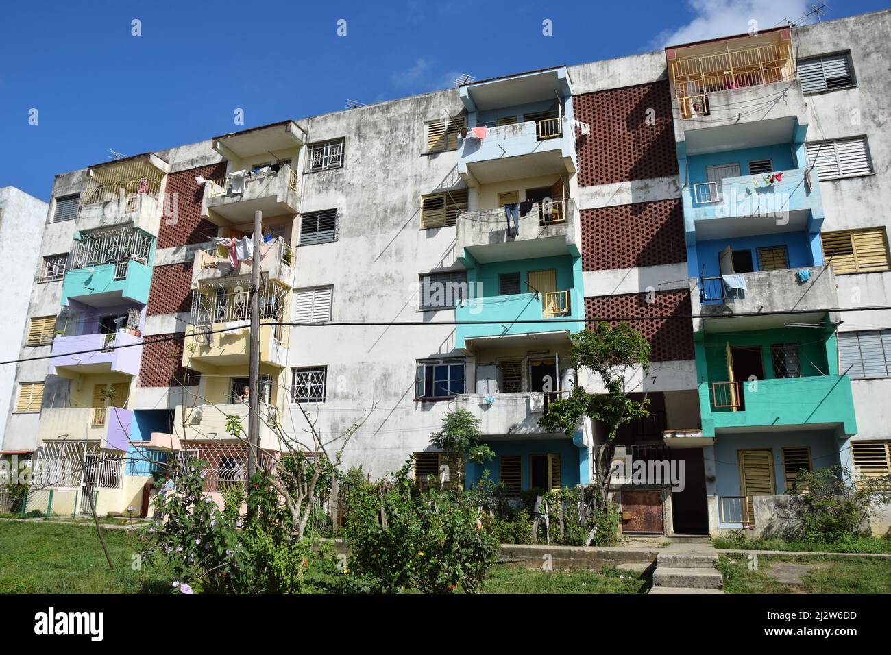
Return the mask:
<path id="1" fill-rule="evenodd" d="M 569 289 L 544 294 L 516 293 L 462 300 L 454 310 L 455 348 L 471 352 L 476 348 L 524 344 L 544 346 L 565 343 L 570 332 L 584 327 L 581 291 Z"/>

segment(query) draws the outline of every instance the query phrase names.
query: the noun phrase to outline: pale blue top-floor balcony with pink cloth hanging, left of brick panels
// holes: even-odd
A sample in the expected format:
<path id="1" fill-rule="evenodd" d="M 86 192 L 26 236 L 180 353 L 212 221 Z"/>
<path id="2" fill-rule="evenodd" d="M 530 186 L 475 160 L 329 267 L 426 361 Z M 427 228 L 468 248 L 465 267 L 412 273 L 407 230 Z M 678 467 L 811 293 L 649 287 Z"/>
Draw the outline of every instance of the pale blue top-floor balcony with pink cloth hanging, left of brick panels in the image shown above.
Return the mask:
<path id="1" fill-rule="evenodd" d="M 486 138 L 465 138 L 458 174 L 469 186 L 576 172 L 574 130 L 568 118 L 527 120 L 489 127 Z"/>

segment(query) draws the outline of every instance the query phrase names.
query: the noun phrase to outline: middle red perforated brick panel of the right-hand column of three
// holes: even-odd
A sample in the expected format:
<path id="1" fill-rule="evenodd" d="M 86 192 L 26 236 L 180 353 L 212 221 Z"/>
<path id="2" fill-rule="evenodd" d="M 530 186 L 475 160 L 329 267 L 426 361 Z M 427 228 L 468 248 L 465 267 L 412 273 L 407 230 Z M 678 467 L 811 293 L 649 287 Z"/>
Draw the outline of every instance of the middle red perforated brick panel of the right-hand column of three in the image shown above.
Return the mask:
<path id="1" fill-rule="evenodd" d="M 679 200 L 582 209 L 581 215 L 585 271 L 687 261 Z"/>

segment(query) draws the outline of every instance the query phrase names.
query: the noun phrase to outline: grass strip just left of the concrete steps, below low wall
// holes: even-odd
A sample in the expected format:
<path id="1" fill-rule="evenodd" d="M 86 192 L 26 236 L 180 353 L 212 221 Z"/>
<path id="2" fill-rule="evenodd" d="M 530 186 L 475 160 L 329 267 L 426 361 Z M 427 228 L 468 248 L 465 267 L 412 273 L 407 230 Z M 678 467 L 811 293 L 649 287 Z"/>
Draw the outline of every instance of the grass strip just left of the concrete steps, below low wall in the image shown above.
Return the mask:
<path id="1" fill-rule="evenodd" d="M 496 566 L 483 585 L 485 594 L 641 594 L 649 581 L 613 569 L 541 571 Z"/>

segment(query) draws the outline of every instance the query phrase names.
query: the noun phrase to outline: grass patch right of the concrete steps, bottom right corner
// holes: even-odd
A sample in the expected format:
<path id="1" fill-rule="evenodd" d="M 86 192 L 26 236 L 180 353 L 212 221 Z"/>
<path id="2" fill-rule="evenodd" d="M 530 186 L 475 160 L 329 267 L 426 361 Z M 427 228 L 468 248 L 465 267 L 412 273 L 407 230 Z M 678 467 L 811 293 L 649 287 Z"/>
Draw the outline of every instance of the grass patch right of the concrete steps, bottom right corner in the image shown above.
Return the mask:
<path id="1" fill-rule="evenodd" d="M 727 594 L 891 594 L 891 560 L 831 555 L 758 557 L 758 570 L 748 570 L 745 555 L 720 556 Z M 778 582 L 770 574 L 772 564 L 788 561 L 811 564 L 801 585 Z"/>

